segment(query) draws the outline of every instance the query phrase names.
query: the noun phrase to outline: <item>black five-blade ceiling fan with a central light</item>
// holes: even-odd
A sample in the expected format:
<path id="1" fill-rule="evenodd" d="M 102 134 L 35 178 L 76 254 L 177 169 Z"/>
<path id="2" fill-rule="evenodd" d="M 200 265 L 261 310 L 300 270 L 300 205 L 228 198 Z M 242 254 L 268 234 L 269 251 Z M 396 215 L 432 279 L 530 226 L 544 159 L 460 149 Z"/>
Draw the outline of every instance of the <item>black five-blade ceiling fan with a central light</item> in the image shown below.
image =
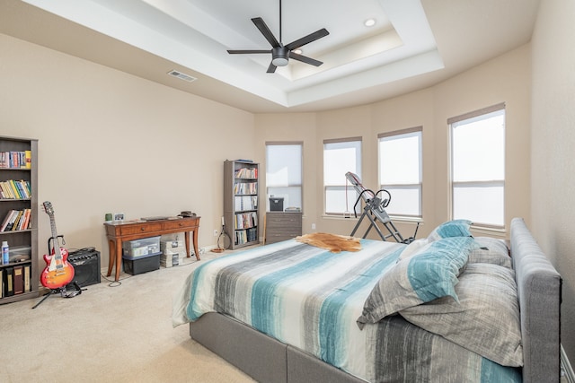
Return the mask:
<path id="1" fill-rule="evenodd" d="M 271 53 L 271 63 L 268 67 L 267 73 L 272 74 L 276 72 L 276 68 L 278 66 L 286 66 L 288 65 L 288 59 L 293 58 L 294 60 L 301 61 L 305 64 L 319 66 L 322 65 L 323 62 L 315 60 L 314 58 L 305 57 L 303 55 L 297 54 L 294 52 L 295 49 L 301 48 L 305 46 L 305 44 L 309 44 L 316 39 L 321 39 L 330 34 L 325 28 L 321 30 L 316 30 L 314 33 L 310 33 L 309 35 L 301 38 L 296 39 L 295 41 L 290 42 L 287 45 L 283 45 L 281 42 L 281 0 L 279 0 L 279 41 L 275 38 L 273 33 L 271 33 L 270 28 L 268 25 L 263 21 L 261 17 L 255 17 L 252 19 L 252 22 L 261 31 L 261 34 L 264 38 L 266 38 L 271 45 L 271 49 L 269 50 L 260 50 L 260 49 L 248 49 L 248 50 L 238 50 L 238 49 L 229 49 L 227 53 L 234 55 L 234 54 L 252 54 L 252 53 Z"/>

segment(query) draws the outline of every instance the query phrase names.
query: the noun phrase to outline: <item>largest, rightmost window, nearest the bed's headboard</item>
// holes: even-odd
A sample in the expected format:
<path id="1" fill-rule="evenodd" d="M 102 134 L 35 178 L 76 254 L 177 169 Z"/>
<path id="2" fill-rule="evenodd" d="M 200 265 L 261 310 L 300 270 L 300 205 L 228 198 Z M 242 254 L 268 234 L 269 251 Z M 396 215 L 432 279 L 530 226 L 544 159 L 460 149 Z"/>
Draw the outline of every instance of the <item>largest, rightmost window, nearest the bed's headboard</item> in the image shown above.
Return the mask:
<path id="1" fill-rule="evenodd" d="M 447 120 L 454 219 L 505 226 L 505 105 Z"/>

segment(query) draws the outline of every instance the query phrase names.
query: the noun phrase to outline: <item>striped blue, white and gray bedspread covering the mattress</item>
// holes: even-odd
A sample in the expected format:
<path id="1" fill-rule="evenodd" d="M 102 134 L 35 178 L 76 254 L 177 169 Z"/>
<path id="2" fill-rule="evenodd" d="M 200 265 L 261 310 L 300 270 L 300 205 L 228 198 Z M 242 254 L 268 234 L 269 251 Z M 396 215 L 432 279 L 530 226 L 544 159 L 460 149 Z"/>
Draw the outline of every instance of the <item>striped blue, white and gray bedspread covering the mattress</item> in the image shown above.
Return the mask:
<path id="1" fill-rule="evenodd" d="M 405 247 L 361 245 L 333 254 L 291 239 L 208 261 L 174 301 L 173 325 L 220 312 L 367 381 L 490 381 L 499 374 L 499 365 L 400 316 L 360 330 L 367 296 Z"/>

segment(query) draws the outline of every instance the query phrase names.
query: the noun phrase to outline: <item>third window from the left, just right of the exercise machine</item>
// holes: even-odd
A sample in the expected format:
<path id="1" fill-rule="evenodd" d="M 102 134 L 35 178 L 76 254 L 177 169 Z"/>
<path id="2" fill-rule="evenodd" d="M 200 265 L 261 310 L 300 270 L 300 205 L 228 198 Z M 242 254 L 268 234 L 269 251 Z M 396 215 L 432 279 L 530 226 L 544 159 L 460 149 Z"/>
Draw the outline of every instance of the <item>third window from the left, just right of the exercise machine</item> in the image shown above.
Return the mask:
<path id="1" fill-rule="evenodd" d="M 421 130 L 415 127 L 377 136 L 380 188 L 392 196 L 385 208 L 388 214 L 421 216 Z"/>

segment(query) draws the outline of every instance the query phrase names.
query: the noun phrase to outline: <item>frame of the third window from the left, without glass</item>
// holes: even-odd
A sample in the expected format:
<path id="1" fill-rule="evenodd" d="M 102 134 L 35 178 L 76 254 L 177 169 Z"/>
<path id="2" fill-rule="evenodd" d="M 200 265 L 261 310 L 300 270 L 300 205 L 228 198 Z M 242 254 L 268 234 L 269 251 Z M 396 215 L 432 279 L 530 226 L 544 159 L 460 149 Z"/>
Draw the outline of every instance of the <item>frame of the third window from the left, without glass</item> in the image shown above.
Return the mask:
<path id="1" fill-rule="evenodd" d="M 382 180 L 382 160 L 381 160 L 381 142 L 382 138 L 389 138 L 389 137 L 398 137 L 401 135 L 411 135 L 417 133 L 419 134 L 419 183 L 417 184 L 384 184 Z M 419 196 L 419 214 L 409 214 L 409 213 L 389 213 L 394 217 L 399 218 L 406 218 L 406 219 L 421 219 L 423 217 L 423 126 L 414 126 L 406 129 L 395 130 L 393 132 L 386 132 L 380 133 L 377 135 L 377 178 L 379 181 L 379 188 L 380 189 L 392 189 L 393 187 L 404 187 L 404 188 L 416 188 L 418 190 Z M 391 191 L 390 191 L 391 194 Z M 392 201 L 393 201 L 393 194 L 392 194 Z"/>

